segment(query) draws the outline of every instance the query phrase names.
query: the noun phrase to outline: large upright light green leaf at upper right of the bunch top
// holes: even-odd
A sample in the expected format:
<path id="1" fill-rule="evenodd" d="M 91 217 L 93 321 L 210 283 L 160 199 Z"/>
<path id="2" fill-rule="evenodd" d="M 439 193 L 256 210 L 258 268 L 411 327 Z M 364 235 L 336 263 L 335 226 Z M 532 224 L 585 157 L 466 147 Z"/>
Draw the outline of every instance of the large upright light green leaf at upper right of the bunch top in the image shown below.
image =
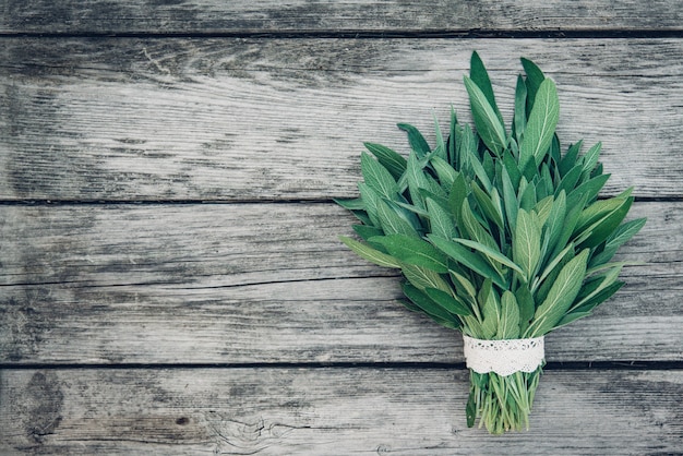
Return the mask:
<path id="1" fill-rule="evenodd" d="M 524 131 L 524 139 L 519 144 L 520 168 L 524 169 L 531 159 L 535 159 L 536 166 L 541 164 L 552 142 L 559 119 L 560 99 L 558 98 L 558 91 L 552 80 L 546 79 L 538 89 L 534 108 Z"/>

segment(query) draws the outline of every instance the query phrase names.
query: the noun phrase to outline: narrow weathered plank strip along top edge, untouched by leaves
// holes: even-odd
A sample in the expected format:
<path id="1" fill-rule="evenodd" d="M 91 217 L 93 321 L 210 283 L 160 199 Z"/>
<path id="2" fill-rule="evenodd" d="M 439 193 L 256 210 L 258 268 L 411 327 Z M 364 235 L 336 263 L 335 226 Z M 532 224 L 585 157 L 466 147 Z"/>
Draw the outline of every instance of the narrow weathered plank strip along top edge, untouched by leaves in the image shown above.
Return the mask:
<path id="1" fill-rule="evenodd" d="M 681 29 L 675 1 L 21 1 L 1 33 Z"/>

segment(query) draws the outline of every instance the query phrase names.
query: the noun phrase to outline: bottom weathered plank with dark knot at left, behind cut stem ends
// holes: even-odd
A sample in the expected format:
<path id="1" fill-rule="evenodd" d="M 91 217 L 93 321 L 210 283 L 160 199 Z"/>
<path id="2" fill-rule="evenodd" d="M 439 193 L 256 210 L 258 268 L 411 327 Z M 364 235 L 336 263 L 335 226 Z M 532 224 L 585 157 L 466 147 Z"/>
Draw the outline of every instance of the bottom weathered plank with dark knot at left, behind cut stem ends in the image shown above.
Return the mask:
<path id="1" fill-rule="evenodd" d="M 683 372 L 549 371 L 530 430 L 465 423 L 468 374 L 416 369 L 1 373 L 3 454 L 674 454 Z"/>

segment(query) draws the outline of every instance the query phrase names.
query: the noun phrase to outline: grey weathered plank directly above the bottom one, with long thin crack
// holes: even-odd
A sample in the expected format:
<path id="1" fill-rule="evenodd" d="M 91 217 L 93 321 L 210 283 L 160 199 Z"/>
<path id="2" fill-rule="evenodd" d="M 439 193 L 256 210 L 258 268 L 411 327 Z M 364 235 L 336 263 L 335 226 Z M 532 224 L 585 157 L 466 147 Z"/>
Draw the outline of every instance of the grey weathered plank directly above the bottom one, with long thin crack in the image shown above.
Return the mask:
<path id="1" fill-rule="evenodd" d="M 549 337 L 550 361 L 683 360 L 683 203 L 637 203 L 627 286 Z M 0 207 L 0 360 L 462 362 L 327 204 Z"/>

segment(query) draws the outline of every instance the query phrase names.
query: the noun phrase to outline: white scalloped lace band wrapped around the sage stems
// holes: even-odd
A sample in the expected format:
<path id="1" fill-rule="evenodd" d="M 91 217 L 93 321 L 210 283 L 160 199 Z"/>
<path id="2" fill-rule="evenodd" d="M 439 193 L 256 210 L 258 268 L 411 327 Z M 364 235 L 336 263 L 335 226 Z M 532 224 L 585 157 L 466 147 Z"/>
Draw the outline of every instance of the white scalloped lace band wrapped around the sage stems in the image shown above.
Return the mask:
<path id="1" fill-rule="evenodd" d="M 481 340 L 463 334 L 467 367 L 484 374 L 510 375 L 534 372 L 543 363 L 543 336 L 529 339 Z"/>

